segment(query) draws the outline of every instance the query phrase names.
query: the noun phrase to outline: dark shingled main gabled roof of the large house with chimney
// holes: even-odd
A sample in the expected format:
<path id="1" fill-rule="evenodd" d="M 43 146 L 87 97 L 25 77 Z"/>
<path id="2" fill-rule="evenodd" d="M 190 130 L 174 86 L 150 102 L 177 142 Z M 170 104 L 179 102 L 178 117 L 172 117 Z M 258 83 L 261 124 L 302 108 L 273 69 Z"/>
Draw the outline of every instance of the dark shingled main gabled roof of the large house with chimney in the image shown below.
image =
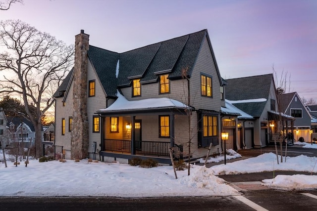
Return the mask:
<path id="1" fill-rule="evenodd" d="M 211 47 L 207 29 L 123 53 L 89 45 L 88 58 L 107 96 L 114 97 L 117 87 L 129 86 L 132 79 L 140 79 L 141 84 L 153 83 L 157 82 L 158 75 L 165 73 L 169 74 L 170 80 L 178 79 L 181 78 L 182 70 L 185 68 L 187 68 L 187 75 L 191 77 L 198 53 L 206 37 Z M 213 53 L 212 47 L 211 52 Z M 213 60 L 220 84 L 222 84 L 215 58 Z M 116 76 L 118 61 L 119 69 Z M 71 80 L 72 71 L 58 87 L 53 97 L 62 97 Z"/>

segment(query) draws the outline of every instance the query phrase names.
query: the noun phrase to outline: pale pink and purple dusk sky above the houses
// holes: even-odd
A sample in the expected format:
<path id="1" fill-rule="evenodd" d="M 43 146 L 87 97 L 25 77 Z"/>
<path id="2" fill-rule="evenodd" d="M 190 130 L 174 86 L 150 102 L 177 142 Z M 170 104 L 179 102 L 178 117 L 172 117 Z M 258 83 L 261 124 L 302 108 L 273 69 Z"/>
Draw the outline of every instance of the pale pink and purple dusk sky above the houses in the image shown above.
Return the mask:
<path id="1" fill-rule="evenodd" d="M 286 92 L 317 100 L 317 0 L 24 0 L 20 19 L 67 44 L 124 52 L 208 29 L 224 79 L 287 73 Z"/>

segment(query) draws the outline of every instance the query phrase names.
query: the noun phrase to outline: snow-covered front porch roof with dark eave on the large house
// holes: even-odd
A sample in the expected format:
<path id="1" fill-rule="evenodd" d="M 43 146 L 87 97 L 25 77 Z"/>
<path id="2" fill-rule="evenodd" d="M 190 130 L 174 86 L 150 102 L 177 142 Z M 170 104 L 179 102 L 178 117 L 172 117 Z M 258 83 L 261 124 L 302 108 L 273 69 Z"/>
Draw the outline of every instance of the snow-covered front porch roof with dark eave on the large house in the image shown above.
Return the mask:
<path id="1" fill-rule="evenodd" d="M 193 109 L 186 104 L 170 98 L 149 98 L 142 100 L 127 100 L 119 91 L 117 99 L 108 108 L 100 109 L 97 114 L 113 113 L 134 113 L 134 112 L 151 112 L 161 110 L 179 110 Z"/>

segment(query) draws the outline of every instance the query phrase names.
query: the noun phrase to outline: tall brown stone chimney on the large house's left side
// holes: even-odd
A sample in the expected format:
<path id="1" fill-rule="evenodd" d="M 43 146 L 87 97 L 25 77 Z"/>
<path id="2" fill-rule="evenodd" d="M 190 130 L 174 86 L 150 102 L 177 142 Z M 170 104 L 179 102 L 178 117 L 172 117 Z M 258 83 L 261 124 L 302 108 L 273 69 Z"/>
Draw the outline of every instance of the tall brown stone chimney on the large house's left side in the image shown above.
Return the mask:
<path id="1" fill-rule="evenodd" d="M 73 121 L 71 131 L 71 158 L 88 157 L 89 124 L 87 114 L 87 63 L 89 35 L 80 30 L 75 36 L 75 66 L 73 77 Z"/>

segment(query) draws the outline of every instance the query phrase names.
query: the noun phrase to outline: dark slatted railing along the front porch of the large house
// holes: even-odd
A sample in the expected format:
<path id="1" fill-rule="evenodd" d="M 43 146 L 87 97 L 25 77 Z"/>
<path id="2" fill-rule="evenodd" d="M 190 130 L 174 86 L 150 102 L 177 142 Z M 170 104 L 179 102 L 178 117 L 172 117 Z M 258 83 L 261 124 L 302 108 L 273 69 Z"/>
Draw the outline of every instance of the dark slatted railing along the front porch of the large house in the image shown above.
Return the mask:
<path id="1" fill-rule="evenodd" d="M 149 155 L 157 157 L 169 157 L 170 142 L 162 141 L 134 141 L 135 152 L 137 155 Z M 105 139 L 105 151 L 116 153 L 131 153 L 131 141 Z M 174 145 L 173 156 L 183 158 L 183 146 Z"/>

